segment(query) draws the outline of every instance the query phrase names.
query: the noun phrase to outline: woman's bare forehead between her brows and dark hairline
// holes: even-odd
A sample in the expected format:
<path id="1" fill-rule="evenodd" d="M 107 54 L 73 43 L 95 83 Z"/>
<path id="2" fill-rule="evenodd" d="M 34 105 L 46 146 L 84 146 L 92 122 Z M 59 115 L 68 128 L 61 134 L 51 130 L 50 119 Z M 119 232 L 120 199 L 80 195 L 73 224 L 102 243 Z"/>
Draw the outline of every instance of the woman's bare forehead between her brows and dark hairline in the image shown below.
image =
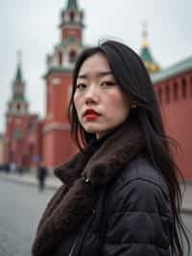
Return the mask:
<path id="1" fill-rule="evenodd" d="M 78 77 L 104 76 L 111 74 L 108 59 L 104 54 L 97 53 L 88 57 L 82 64 Z"/>

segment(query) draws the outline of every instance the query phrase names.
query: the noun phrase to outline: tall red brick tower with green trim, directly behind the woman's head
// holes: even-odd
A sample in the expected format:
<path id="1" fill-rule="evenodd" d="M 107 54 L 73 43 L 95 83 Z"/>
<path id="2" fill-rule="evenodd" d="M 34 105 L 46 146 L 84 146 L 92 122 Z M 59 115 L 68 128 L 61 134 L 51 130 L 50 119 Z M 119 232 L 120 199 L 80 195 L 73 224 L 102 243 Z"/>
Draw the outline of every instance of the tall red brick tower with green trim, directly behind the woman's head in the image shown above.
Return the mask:
<path id="1" fill-rule="evenodd" d="M 60 43 L 47 56 L 46 117 L 43 130 L 43 161 L 52 168 L 77 150 L 70 139 L 67 107 L 72 70 L 83 49 L 84 13 L 76 0 L 68 0 L 60 15 Z"/>

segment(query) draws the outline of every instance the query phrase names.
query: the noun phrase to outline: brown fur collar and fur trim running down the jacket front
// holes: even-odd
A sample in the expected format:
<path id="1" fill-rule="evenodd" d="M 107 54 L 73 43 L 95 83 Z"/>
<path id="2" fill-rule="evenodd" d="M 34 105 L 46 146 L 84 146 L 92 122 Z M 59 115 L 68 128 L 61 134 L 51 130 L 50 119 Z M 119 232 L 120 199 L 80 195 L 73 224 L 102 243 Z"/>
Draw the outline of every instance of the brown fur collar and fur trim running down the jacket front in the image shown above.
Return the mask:
<path id="1" fill-rule="evenodd" d="M 90 215 L 94 207 L 94 187 L 107 184 L 143 147 L 138 125 L 126 121 L 96 152 L 89 145 L 84 152 L 58 167 L 55 174 L 65 186 L 48 204 L 39 222 L 33 256 L 53 255 L 67 234 Z"/>

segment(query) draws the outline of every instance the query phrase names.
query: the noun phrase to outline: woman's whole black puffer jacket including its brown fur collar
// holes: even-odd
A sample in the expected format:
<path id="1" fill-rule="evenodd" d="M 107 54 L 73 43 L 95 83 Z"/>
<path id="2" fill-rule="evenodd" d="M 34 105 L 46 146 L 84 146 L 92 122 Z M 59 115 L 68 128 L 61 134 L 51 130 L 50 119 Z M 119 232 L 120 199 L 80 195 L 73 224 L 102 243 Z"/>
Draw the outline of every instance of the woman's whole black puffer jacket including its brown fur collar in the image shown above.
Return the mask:
<path id="1" fill-rule="evenodd" d="M 122 141 L 128 127 L 129 136 Z M 139 131 L 128 127 L 121 127 L 96 153 L 89 148 L 88 157 L 77 155 L 57 169 L 66 187 L 39 223 L 33 255 L 170 255 L 169 192 L 144 155 Z M 82 177 L 75 178 L 83 166 Z"/>

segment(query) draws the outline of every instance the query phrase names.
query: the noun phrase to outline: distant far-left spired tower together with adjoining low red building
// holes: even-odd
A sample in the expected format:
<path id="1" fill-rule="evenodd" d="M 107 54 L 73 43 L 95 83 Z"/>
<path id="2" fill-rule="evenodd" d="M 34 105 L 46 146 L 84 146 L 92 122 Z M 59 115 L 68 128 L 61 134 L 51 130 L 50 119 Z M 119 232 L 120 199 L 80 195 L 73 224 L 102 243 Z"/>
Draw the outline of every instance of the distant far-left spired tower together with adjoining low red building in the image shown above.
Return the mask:
<path id="1" fill-rule="evenodd" d="M 25 97 L 25 82 L 20 54 L 12 82 L 12 98 L 8 102 L 6 134 L 4 138 L 4 162 L 14 163 L 25 170 L 34 166 L 42 154 L 42 124 L 38 115 L 29 113 Z"/>

